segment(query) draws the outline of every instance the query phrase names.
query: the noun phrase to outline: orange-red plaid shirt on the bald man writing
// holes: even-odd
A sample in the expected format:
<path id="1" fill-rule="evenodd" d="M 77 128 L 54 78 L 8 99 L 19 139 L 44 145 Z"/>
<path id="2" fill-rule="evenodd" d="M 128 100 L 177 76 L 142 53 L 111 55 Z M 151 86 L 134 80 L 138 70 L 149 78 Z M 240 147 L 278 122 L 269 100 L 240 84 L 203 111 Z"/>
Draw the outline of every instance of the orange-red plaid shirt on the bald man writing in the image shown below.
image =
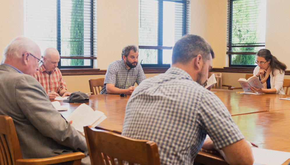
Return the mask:
<path id="1" fill-rule="evenodd" d="M 59 93 L 62 89 L 66 89 L 66 83 L 62 79 L 59 68 L 50 71 L 50 74 L 45 70 L 43 65 L 39 68 L 33 77 L 40 82 L 46 93 L 48 93 L 47 90 Z"/>

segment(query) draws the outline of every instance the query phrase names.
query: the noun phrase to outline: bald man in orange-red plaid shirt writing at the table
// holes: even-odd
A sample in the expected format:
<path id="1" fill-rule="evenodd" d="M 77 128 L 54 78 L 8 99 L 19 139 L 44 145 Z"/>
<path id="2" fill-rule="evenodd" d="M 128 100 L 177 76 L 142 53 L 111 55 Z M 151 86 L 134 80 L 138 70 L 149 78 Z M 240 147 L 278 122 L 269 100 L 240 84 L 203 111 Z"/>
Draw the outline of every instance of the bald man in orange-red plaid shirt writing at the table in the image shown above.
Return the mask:
<path id="1" fill-rule="evenodd" d="M 70 95 L 57 68 L 59 59 L 59 52 L 55 48 L 47 48 L 43 55 L 43 65 L 33 75 L 43 86 L 50 100 L 54 100 L 58 95 L 62 97 Z"/>

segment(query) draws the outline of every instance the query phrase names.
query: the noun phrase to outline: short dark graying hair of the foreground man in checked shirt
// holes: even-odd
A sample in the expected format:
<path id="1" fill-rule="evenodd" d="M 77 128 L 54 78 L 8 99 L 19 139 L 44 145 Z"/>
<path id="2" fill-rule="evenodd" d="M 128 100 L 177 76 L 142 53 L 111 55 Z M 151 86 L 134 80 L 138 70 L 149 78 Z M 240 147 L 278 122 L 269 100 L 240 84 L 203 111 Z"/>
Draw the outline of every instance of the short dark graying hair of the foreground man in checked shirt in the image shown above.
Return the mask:
<path id="1" fill-rule="evenodd" d="M 185 35 L 179 39 L 172 50 L 172 64 L 180 62 L 187 64 L 197 55 L 202 59 L 208 60 L 214 58 L 214 52 L 209 43 L 198 35 Z"/>

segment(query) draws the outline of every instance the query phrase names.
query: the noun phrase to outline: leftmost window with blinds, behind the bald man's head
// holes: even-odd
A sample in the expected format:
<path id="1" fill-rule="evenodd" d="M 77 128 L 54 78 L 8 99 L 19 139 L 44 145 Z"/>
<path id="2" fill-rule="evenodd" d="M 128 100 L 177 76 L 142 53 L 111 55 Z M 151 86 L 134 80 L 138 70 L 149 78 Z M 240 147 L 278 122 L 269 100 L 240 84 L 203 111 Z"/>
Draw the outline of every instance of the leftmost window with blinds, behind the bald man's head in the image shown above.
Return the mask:
<path id="1" fill-rule="evenodd" d="M 24 0 L 24 36 L 43 55 L 59 51 L 58 68 L 93 68 L 97 55 L 96 0 Z"/>

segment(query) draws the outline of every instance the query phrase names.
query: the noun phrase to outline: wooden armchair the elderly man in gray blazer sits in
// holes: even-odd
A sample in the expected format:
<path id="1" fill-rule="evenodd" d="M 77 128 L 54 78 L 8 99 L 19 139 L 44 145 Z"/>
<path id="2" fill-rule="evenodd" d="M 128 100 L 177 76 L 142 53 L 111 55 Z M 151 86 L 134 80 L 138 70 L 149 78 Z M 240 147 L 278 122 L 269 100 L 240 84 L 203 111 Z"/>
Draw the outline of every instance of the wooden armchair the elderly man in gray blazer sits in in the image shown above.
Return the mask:
<path id="1" fill-rule="evenodd" d="M 71 162 L 80 165 L 84 153 L 76 152 L 41 159 L 22 159 L 22 153 L 13 120 L 9 116 L 0 115 L 0 164 L 1 165 L 46 165 Z"/>

